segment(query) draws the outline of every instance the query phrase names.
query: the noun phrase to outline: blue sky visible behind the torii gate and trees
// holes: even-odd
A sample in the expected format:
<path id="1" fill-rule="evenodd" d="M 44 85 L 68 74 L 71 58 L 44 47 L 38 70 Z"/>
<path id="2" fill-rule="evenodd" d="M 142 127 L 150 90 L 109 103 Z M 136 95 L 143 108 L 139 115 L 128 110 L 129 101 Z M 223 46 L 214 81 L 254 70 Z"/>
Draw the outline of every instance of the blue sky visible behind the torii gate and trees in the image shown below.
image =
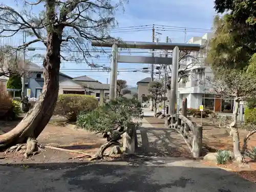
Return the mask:
<path id="1" fill-rule="evenodd" d="M 3 4 L 7 4 L 12 7 L 22 7 L 20 4 L 16 6 L 14 1 L 2 0 Z M 22 2 L 21 0 L 18 2 Z M 42 9 L 40 7 L 39 9 Z M 38 8 L 34 8 L 36 12 Z M 186 28 L 197 28 L 202 30 L 188 30 L 186 33 L 186 40 L 192 36 L 202 36 L 207 29 L 212 26 L 212 20 L 216 15 L 214 11 L 214 0 L 130 0 L 130 3 L 125 5 L 125 11 L 122 10 L 116 13 L 116 19 L 121 27 L 132 27 L 132 26 L 145 26 L 145 25 L 161 25 L 161 26 L 175 26 L 175 27 L 186 27 Z M 115 37 L 121 37 L 123 40 L 132 41 L 152 41 L 152 31 L 150 27 L 140 27 L 139 30 L 119 30 L 122 32 L 112 33 Z M 176 29 L 176 30 L 175 30 Z M 179 30 L 177 30 L 179 29 Z M 168 30 L 168 31 L 164 31 Z M 161 33 L 158 35 L 160 41 L 164 42 L 165 37 L 168 36 L 173 42 L 184 42 L 185 33 L 184 28 L 173 28 L 160 27 L 156 28 L 156 32 Z M 124 32 L 126 31 L 126 32 Z M 133 32 L 131 32 L 133 31 Z M 191 32 L 194 31 L 194 32 Z M 201 32 L 199 32 L 201 31 Z M 29 40 L 29 39 L 28 39 Z M 22 43 L 22 36 L 17 35 L 9 39 L 1 39 L 2 44 L 20 45 Z M 40 44 L 33 45 L 32 47 L 44 48 Z M 131 50 L 132 51 L 132 50 Z M 146 53 L 148 50 L 141 50 L 145 53 L 136 55 L 150 55 Z M 39 53 L 44 54 L 44 50 L 36 50 L 33 53 L 27 53 L 27 58 L 30 58 L 32 54 Z M 133 54 L 135 55 L 135 54 Z M 31 58 L 32 59 L 32 58 Z M 32 59 L 38 65 L 42 64 L 41 59 Z M 110 66 L 110 60 L 108 57 L 101 56 L 99 59 L 94 59 L 94 62 L 102 63 L 106 66 Z M 148 67 L 147 64 L 135 64 L 135 63 L 119 63 L 118 68 L 127 69 L 134 68 L 139 69 L 142 67 Z M 86 63 L 74 63 L 74 62 L 63 62 L 61 65 L 63 73 L 72 77 L 88 75 L 95 78 L 102 83 L 106 83 L 107 78 L 110 79 L 109 73 L 103 72 L 86 72 L 84 69 L 89 69 Z M 82 71 L 83 70 L 83 71 Z M 118 79 L 124 79 L 127 81 L 129 86 L 136 86 L 136 82 L 149 77 L 150 74 L 141 72 L 120 72 Z"/>

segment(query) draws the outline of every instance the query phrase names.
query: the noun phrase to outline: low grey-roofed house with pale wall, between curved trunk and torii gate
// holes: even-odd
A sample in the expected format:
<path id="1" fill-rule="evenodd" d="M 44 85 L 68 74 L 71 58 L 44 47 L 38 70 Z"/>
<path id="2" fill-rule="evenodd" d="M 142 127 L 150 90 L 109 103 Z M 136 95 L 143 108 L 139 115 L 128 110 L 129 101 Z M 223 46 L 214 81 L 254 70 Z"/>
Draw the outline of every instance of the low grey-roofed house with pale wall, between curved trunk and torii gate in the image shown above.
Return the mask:
<path id="1" fill-rule="evenodd" d="M 103 91 L 104 97 L 110 93 L 110 84 L 103 84 L 86 75 L 65 79 L 59 83 L 59 94 L 86 94 L 100 97 Z"/>

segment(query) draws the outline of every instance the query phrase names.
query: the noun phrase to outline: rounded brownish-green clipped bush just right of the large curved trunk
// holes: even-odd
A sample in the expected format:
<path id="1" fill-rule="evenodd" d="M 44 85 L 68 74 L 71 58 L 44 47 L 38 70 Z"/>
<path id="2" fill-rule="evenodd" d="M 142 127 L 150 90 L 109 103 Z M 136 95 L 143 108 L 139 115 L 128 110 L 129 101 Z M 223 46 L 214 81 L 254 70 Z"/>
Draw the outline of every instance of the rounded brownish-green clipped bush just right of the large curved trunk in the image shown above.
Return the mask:
<path id="1" fill-rule="evenodd" d="M 90 95 L 62 94 L 59 95 L 54 115 L 67 118 L 69 122 L 76 121 L 80 112 L 90 112 L 97 108 L 98 100 Z"/>

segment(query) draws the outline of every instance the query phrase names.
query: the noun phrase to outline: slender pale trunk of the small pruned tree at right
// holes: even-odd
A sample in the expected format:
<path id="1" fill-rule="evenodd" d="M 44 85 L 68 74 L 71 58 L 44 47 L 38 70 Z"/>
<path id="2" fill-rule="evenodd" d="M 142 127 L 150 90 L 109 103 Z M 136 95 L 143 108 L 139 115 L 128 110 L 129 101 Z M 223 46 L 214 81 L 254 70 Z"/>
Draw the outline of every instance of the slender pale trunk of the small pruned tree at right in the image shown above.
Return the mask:
<path id="1" fill-rule="evenodd" d="M 234 158 L 238 162 L 243 161 L 243 156 L 240 152 L 240 138 L 239 138 L 239 132 L 238 132 L 238 110 L 239 110 L 239 100 L 235 99 L 235 108 L 233 112 L 233 122 L 230 124 L 230 135 L 233 139 L 233 152 L 234 152 Z"/>

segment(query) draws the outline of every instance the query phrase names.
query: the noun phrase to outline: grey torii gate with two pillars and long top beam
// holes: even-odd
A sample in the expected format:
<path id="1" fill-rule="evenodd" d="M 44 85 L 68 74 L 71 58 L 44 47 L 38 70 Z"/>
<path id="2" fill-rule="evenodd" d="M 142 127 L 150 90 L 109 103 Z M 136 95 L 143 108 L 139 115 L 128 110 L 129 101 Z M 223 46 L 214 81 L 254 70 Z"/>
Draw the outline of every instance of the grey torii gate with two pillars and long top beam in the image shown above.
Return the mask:
<path id="1" fill-rule="evenodd" d="M 178 95 L 178 69 L 179 69 L 179 50 L 199 51 L 202 46 L 199 44 L 176 44 L 169 42 L 142 42 L 142 41 L 92 41 L 94 47 L 112 47 L 112 62 L 110 76 L 110 99 L 116 98 L 117 90 L 117 66 L 118 62 L 127 63 L 149 63 L 172 65 L 172 81 L 170 86 L 169 114 L 174 115 L 175 104 Z M 150 57 L 150 56 L 130 56 L 118 55 L 118 48 L 126 49 L 150 49 L 150 50 L 173 50 L 172 57 Z"/>

